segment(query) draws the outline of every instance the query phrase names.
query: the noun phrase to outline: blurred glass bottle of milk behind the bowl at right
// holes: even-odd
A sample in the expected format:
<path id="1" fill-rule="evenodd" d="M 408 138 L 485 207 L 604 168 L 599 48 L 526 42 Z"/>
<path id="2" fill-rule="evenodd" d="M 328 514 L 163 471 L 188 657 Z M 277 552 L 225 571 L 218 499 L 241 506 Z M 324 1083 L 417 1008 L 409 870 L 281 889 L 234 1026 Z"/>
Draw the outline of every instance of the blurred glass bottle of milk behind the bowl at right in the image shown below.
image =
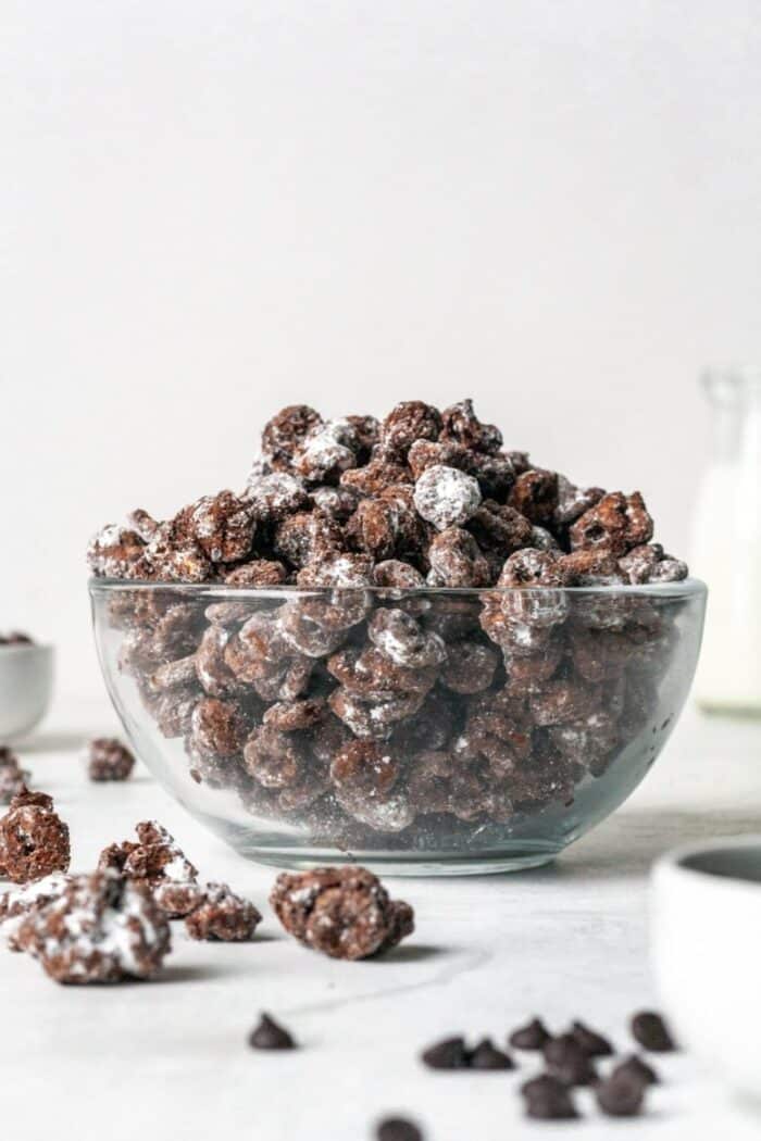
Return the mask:
<path id="1" fill-rule="evenodd" d="M 709 610 L 695 695 L 704 710 L 761 717 L 761 367 L 711 371 L 712 453 L 693 531 Z"/>

